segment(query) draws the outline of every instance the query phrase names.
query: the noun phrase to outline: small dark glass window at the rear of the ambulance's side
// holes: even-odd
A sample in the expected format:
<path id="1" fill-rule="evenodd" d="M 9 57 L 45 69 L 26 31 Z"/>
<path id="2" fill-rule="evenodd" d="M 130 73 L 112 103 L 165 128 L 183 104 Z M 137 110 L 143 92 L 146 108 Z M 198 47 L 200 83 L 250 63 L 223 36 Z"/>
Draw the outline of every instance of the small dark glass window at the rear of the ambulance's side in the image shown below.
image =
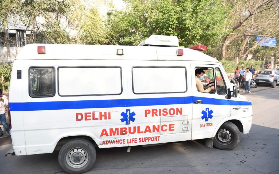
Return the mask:
<path id="1" fill-rule="evenodd" d="M 30 97 L 53 97 L 55 95 L 54 67 L 29 68 Z"/>

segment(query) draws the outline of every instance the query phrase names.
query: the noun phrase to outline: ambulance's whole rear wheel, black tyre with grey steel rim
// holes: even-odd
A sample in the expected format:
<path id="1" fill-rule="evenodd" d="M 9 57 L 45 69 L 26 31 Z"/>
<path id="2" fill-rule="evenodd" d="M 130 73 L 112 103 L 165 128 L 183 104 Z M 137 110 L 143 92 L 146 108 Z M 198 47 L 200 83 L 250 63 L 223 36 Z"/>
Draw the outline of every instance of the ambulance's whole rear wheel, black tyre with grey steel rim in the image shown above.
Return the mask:
<path id="1" fill-rule="evenodd" d="M 61 147 L 58 155 L 60 167 L 67 173 L 80 174 L 89 171 L 96 161 L 96 149 L 84 138 L 74 138 Z"/>

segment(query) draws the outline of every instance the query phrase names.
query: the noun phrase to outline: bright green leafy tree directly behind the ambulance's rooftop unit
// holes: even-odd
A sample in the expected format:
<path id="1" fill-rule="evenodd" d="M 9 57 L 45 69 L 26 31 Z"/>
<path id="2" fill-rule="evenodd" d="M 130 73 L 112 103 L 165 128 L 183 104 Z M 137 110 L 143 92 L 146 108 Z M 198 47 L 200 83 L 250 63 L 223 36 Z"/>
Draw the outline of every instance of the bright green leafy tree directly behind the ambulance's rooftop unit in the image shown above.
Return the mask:
<path id="1" fill-rule="evenodd" d="M 152 34 L 177 36 L 180 46 L 203 44 L 212 49 L 226 33 L 221 0 L 126 0 L 123 11 L 110 11 L 110 44 L 138 45 Z"/>

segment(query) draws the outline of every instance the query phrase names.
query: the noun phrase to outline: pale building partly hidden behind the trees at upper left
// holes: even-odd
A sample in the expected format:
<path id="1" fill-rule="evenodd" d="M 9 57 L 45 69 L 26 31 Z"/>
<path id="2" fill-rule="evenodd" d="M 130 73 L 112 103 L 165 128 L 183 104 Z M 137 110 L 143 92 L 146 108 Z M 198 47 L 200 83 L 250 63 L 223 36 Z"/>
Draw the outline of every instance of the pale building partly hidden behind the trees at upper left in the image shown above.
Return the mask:
<path id="1" fill-rule="evenodd" d="M 118 10 L 125 5 L 122 0 L 82 0 L 82 2 L 87 9 L 96 7 L 103 18 L 106 18 L 107 12 L 112 9 L 111 4 Z M 43 19 L 38 18 L 38 20 L 43 22 Z M 70 39 L 77 34 L 77 26 L 73 22 L 67 22 L 64 17 L 60 23 L 65 26 Z M 22 22 L 14 23 L 11 20 L 7 28 L 3 30 L 0 28 L 0 65 L 11 65 L 21 48 L 32 43 L 31 30 L 28 30 Z"/>

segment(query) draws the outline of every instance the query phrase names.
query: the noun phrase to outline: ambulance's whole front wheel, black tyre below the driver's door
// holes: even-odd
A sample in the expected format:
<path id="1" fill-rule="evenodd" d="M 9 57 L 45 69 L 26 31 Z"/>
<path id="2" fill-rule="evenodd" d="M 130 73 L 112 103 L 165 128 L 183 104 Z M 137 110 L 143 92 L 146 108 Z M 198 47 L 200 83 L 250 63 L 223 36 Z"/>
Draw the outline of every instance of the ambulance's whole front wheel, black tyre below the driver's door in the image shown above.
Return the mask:
<path id="1" fill-rule="evenodd" d="M 239 129 L 232 122 L 225 122 L 213 138 L 213 146 L 221 150 L 232 150 L 240 142 Z"/>

